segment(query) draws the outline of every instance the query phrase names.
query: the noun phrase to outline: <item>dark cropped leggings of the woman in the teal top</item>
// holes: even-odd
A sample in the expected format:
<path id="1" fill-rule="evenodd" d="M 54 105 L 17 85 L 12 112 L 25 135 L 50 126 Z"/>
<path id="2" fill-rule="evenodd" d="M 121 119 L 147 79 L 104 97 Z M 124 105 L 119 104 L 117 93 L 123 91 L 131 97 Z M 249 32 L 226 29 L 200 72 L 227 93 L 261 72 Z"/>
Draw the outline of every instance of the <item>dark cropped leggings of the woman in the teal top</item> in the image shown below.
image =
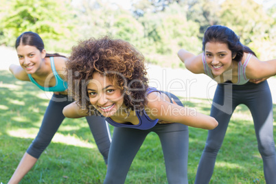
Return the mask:
<path id="1" fill-rule="evenodd" d="M 71 101 L 67 100 L 67 95 L 54 94 L 53 97 L 51 97 L 38 135 L 36 135 L 36 139 L 32 141 L 27 149 L 28 154 L 36 159 L 41 156 L 41 153 L 47 148 L 51 139 L 56 134 L 63 119 L 65 119 L 65 116 L 62 114 L 63 108 L 70 103 Z M 108 124 L 102 117 L 94 115 L 87 117 L 87 122 L 97 144 L 97 148 L 100 150 L 107 164 L 108 152 L 111 144 Z"/>

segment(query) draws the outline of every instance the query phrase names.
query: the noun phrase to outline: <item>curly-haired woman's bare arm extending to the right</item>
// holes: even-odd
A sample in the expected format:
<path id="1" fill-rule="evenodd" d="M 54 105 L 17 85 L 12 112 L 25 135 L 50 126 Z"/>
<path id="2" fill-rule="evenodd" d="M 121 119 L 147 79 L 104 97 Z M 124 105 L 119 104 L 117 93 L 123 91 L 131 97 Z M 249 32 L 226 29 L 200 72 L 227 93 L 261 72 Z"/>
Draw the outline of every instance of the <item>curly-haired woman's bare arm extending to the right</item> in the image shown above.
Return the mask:
<path id="1" fill-rule="evenodd" d="M 164 100 L 158 93 L 150 93 L 148 98 L 148 109 L 146 110 L 152 119 L 161 119 L 165 122 L 176 122 L 207 130 L 212 130 L 218 126 L 214 117 L 198 113 L 194 108 L 172 104 Z"/>

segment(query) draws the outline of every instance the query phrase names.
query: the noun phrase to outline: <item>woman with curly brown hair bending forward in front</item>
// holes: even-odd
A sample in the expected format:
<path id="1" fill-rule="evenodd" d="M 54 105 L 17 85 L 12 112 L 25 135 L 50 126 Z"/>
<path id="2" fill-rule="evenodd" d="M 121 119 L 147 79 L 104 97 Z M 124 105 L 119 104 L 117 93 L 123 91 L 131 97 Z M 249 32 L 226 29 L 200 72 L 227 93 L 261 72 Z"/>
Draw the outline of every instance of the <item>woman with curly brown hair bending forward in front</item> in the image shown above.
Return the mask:
<path id="1" fill-rule="evenodd" d="M 187 126 L 210 130 L 218 125 L 216 119 L 183 107 L 175 95 L 148 87 L 146 74 L 143 55 L 108 36 L 81 41 L 67 62 L 76 102 L 64 108 L 64 115 L 99 114 L 115 126 L 104 183 L 124 183 L 150 132 L 159 135 L 168 182 L 188 183 Z"/>

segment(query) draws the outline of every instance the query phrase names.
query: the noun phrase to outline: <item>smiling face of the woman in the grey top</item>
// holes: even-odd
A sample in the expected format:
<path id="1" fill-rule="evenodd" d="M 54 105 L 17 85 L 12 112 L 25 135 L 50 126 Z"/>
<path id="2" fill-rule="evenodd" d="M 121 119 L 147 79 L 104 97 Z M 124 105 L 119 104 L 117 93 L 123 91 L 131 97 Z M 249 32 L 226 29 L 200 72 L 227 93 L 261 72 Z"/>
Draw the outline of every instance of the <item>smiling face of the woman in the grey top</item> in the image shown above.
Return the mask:
<path id="1" fill-rule="evenodd" d="M 232 52 L 226 43 L 207 42 L 205 58 L 214 76 L 220 76 L 223 72 L 232 69 Z"/>

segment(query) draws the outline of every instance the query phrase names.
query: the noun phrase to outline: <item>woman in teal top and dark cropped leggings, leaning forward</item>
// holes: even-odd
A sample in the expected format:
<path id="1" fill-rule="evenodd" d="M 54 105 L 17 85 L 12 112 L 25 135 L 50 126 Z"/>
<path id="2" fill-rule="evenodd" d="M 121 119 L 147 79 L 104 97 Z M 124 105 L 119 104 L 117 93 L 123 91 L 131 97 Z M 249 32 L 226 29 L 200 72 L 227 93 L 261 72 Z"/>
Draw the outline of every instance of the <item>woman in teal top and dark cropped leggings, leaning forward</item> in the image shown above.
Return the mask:
<path id="1" fill-rule="evenodd" d="M 67 58 L 59 54 L 47 54 L 41 37 L 34 32 L 24 32 L 16 39 L 19 65 L 10 65 L 10 71 L 19 80 L 31 81 L 43 91 L 53 91 L 45 111 L 41 128 L 17 166 L 9 183 L 19 183 L 34 166 L 47 148 L 65 119 L 62 109 L 72 101 L 67 97 L 64 69 Z M 102 117 L 89 116 L 87 122 L 104 161 L 107 164 L 111 143 L 108 124 Z"/>

